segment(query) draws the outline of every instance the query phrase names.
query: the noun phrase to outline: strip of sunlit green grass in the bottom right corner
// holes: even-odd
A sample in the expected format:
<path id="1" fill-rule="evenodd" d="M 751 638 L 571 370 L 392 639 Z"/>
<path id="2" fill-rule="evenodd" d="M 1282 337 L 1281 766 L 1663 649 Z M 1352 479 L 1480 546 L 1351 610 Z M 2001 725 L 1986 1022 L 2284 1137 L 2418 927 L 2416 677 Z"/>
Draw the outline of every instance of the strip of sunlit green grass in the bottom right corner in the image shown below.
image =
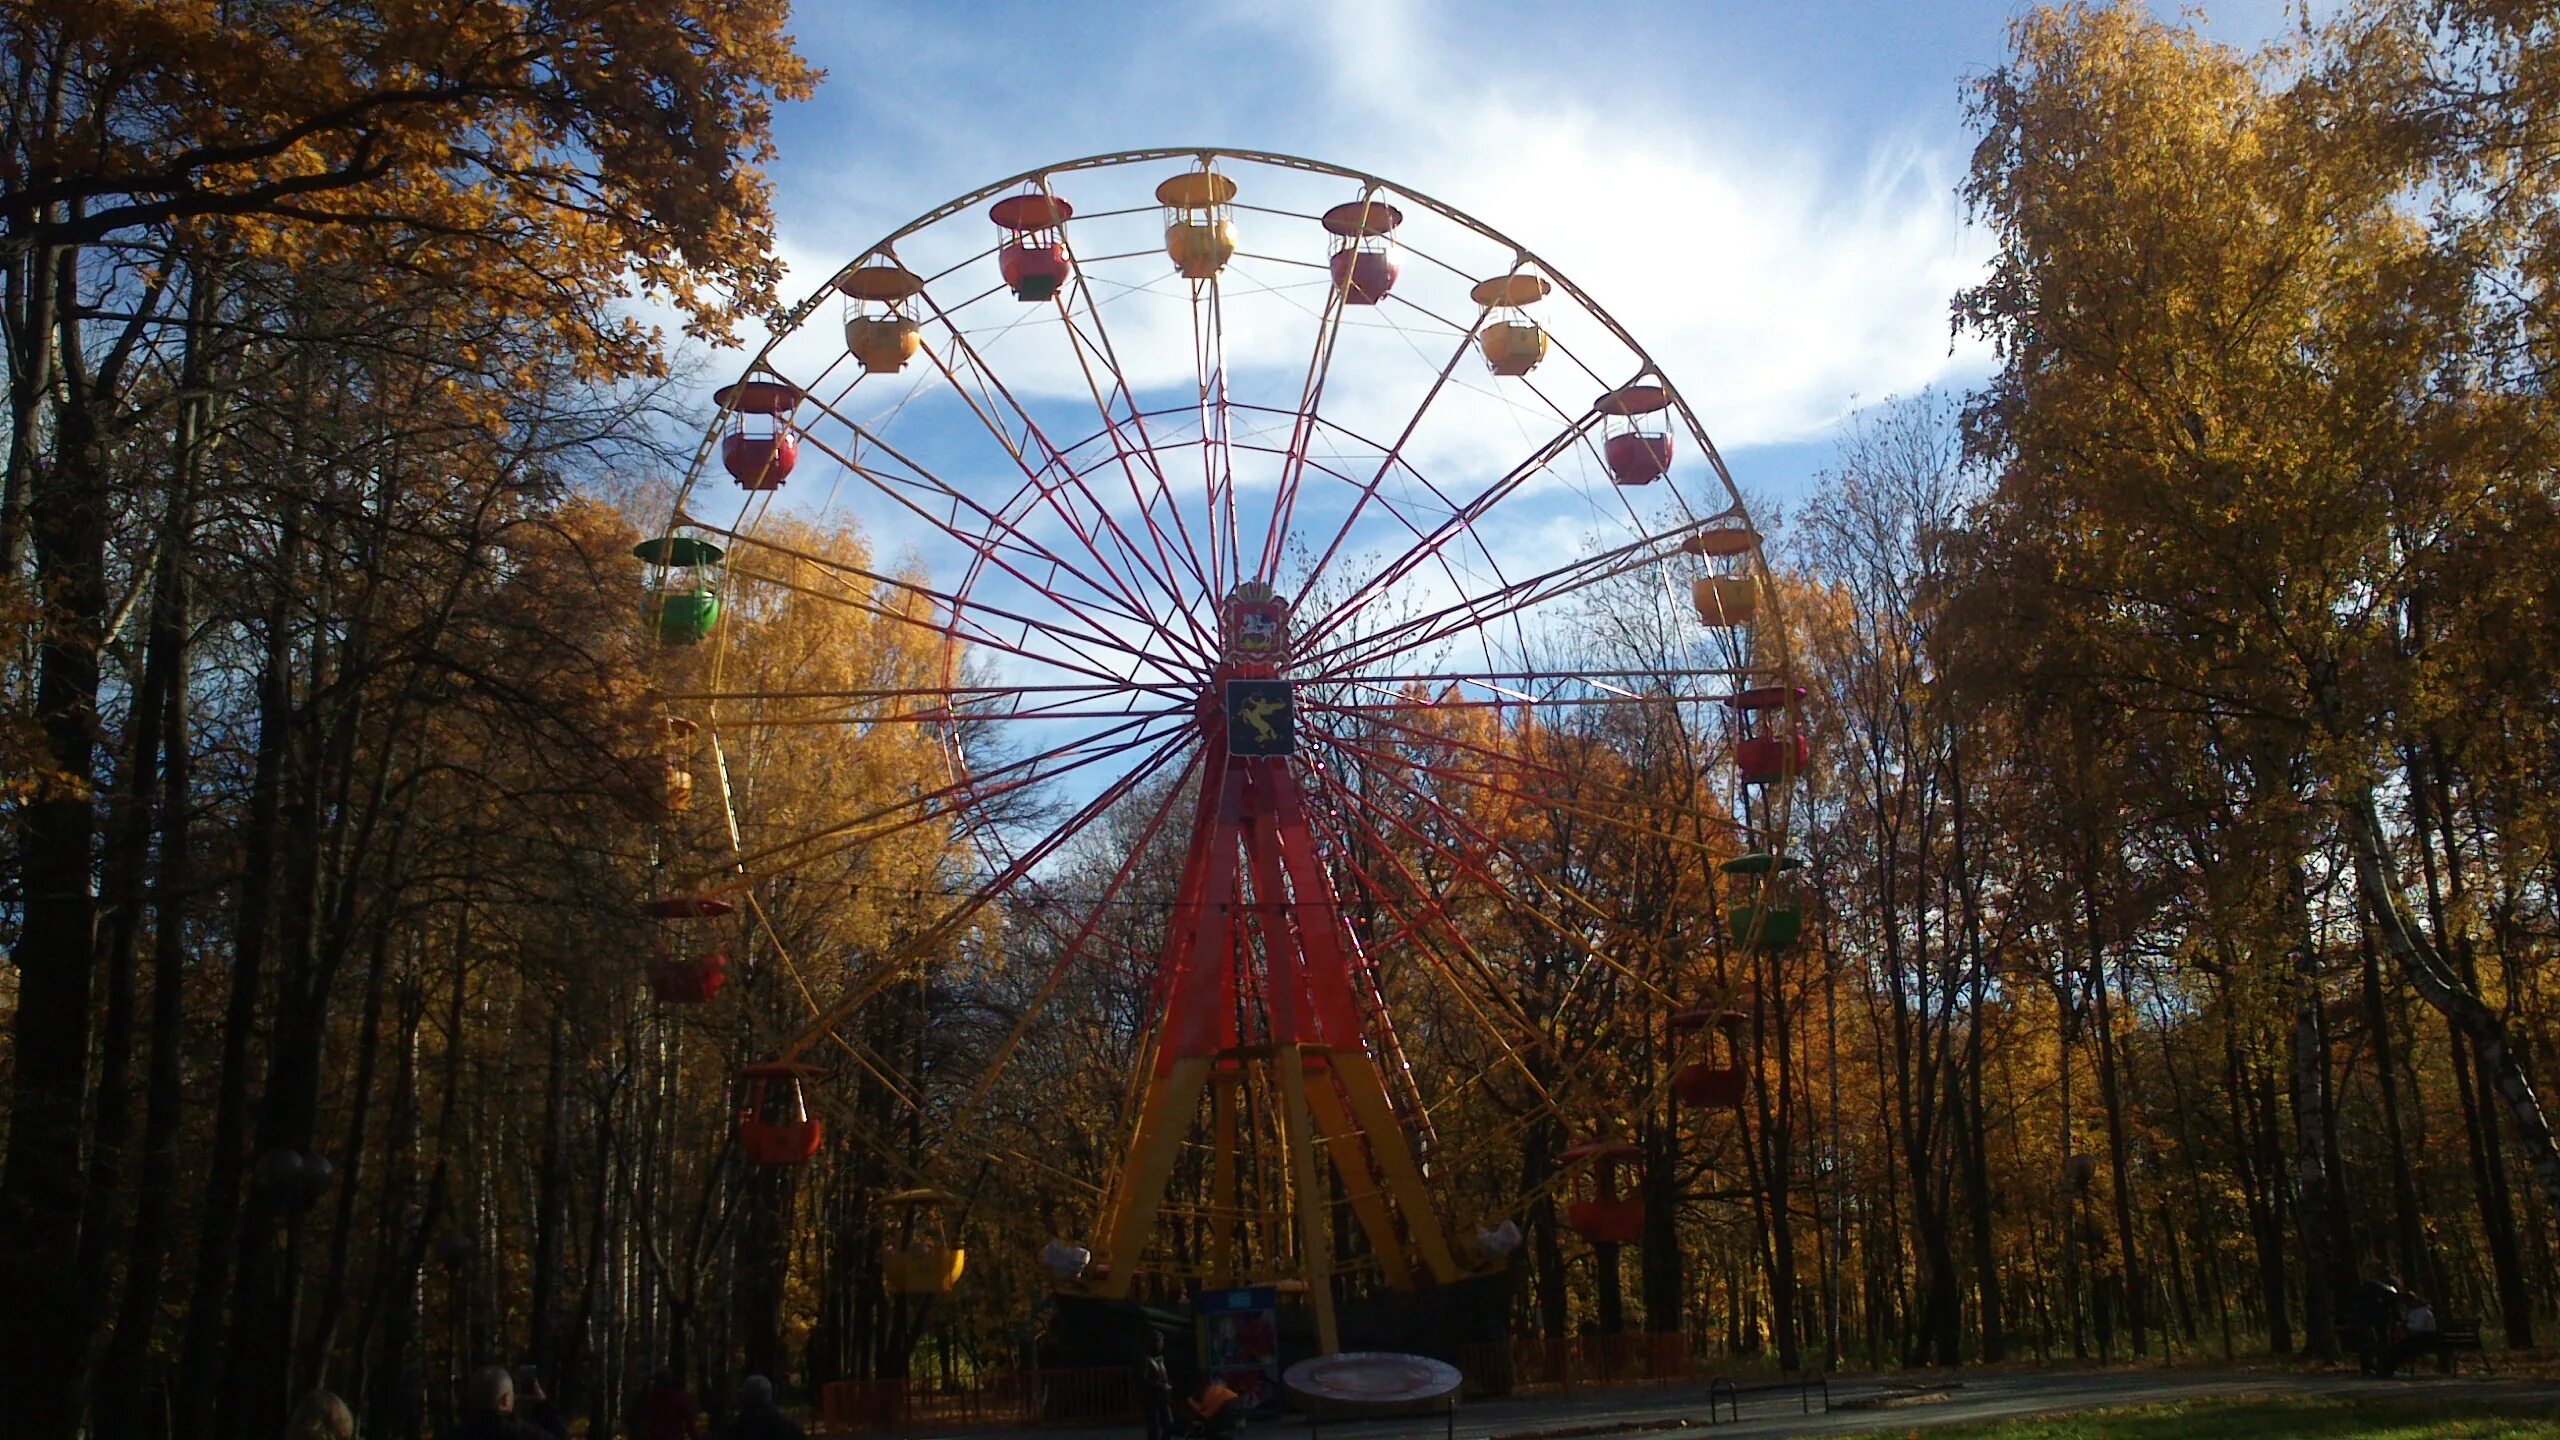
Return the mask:
<path id="1" fill-rule="evenodd" d="M 1920 1440 L 2560 1440 L 2560 1402 L 2209 1399 L 1912 1430 Z"/>

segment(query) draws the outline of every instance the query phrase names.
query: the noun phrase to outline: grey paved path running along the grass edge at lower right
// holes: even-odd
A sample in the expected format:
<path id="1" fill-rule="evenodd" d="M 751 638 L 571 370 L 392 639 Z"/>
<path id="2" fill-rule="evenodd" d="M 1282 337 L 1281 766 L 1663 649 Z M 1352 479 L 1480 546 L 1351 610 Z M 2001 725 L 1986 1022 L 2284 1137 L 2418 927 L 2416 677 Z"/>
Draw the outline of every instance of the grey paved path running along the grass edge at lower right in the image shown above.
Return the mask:
<path id="1" fill-rule="evenodd" d="M 1910 1394 L 1910 1386 L 1946 1386 L 1925 1391 L 1928 1399 L 1900 1399 L 1884 1407 L 1864 1407 L 1887 1394 Z M 1795 1386 L 1746 1391 L 1741 1420 L 1718 1399 L 1718 1425 L 1708 1425 L 1705 1386 L 1659 1389 L 1595 1389 L 1580 1394 L 1546 1394 L 1531 1399 L 1487 1399 L 1459 1407 L 1457 1440 L 1646 1440 L 1682 1435 L 1682 1440 L 1769 1440 L 1782 1435 L 1900 1435 L 1915 1427 L 1969 1425 L 1987 1420 L 2022 1420 L 2035 1414 L 2068 1414 L 2081 1409 L 2112 1409 L 2127 1404 L 2161 1404 L 2173 1399 L 2240 1399 L 2281 1394 L 2394 1394 L 2394 1396 L 2445 1396 L 2445 1399 L 2496 1399 L 2542 1407 L 2560 1420 L 2560 1384 L 2519 1381 L 2496 1376 L 2401 1376 L 2371 1381 L 2345 1373 L 2289 1373 L 2289 1371 L 2033 1371 L 2033 1373 L 1956 1373 L 1946 1381 L 1907 1376 L 1894 1381 L 1838 1379 L 1830 1386 L 1836 1409 L 1805 1412 Z M 937 1437 L 968 1440 L 1021 1440 L 1029 1427 L 1014 1430 L 940 1430 Z M 1062 1435 L 1078 1440 L 1134 1440 L 1134 1425 L 1073 1427 Z M 1321 1440 L 1444 1440 L 1446 1422 L 1426 1420 L 1372 1420 L 1359 1425 L 1326 1425 Z M 1270 1420 L 1247 1427 L 1247 1440 L 1306 1440 L 1303 1420 Z"/>

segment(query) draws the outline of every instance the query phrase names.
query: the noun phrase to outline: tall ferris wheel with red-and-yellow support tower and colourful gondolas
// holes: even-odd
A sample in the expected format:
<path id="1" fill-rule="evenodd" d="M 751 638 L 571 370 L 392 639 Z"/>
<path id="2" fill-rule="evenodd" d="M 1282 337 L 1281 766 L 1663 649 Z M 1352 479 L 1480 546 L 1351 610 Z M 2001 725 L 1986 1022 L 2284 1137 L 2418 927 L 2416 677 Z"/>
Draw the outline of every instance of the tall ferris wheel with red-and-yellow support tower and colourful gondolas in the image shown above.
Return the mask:
<path id="1" fill-rule="evenodd" d="M 824 1074 L 870 1063 L 842 1027 L 893 984 L 1024 971 L 975 1074 L 909 1097 L 965 1150 L 1060 997 L 1116 974 L 1129 1081 L 1057 1279 L 1132 1294 L 1183 1212 L 1190 1279 L 1306 1281 L 1331 1350 L 1336 1209 L 1390 1289 L 1495 1263 L 1536 1194 L 1628 1243 L 1626 1117 L 1746 1104 L 1723 956 L 1797 940 L 1810 756 L 1761 538 L 1636 338 L 1449 205 L 1193 149 L 960 195 L 783 315 L 640 559 L 671 802 L 719 851 L 648 902 L 658 997 L 730 981 L 684 928 L 906 856 L 845 881 L 899 910 L 863 956 L 748 928 L 791 969 L 737 1079 L 748 1161 L 819 1153 Z M 783 607 L 850 628 L 758 648 Z M 927 779 L 760 794 L 778 735 Z M 717 802 L 686 810 L 701 769 Z M 1610 840 L 1677 874 L 1600 874 L 1631 863 L 1590 858 Z M 1597 1017 L 1582 1053 L 1559 1015 Z M 1569 1145 L 1521 1176 L 1531 1125 Z M 947 1289 L 957 1253 L 901 1273 Z"/>

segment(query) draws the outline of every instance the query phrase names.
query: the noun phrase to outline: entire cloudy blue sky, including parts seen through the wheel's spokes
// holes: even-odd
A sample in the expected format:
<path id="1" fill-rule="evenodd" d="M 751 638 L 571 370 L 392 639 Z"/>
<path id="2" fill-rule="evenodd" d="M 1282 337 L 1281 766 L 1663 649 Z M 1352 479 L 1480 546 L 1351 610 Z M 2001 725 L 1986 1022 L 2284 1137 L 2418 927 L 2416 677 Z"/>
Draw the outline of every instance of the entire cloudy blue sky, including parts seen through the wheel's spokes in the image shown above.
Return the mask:
<path id="1" fill-rule="evenodd" d="M 2296 3 L 2304 0 L 2209 0 L 2184 13 L 2217 41 L 2258 49 L 2294 28 Z M 1928 387 L 1964 392 L 1992 369 L 1987 346 L 1951 328 L 1953 295 L 1989 259 L 1989 238 L 1969 223 L 1958 184 L 1974 146 L 1969 82 L 2002 64 L 2017 10 L 2010 0 L 804 0 L 791 28 L 827 77 L 814 100 L 776 115 L 778 154 L 768 172 L 788 266 L 783 297 L 817 295 L 845 264 L 945 202 L 1078 156 L 1198 146 L 1308 156 L 1472 215 L 1580 287 L 1679 389 L 1748 500 L 1751 520 L 1777 530 L 1818 487 L 1846 418 Z M 1211 446 L 1193 425 L 1185 451 L 1183 420 L 1165 418 L 1193 405 L 1208 369 L 1203 361 L 1196 372 L 1201 292 L 1165 261 L 1147 197 L 1178 169 L 1180 161 L 1155 159 L 1126 172 L 1055 177 L 1057 192 L 1078 205 L 1070 236 L 1078 277 L 1088 295 L 1106 295 L 1093 305 L 1111 315 L 1137 405 L 1165 407 L 1149 410 L 1162 430 L 1149 436 L 1144 464 L 1114 451 L 1121 436 L 1096 433 L 1101 397 L 1070 343 L 1075 302 L 1016 305 L 996 284 L 996 231 L 980 197 L 901 241 L 899 261 L 932 277 L 934 305 L 952 305 L 955 323 L 986 356 L 963 361 L 960 336 L 945 328 L 932 331 L 932 364 L 850 382 L 842 305 L 819 300 L 806 325 L 773 348 L 776 372 L 809 387 L 801 407 L 809 446 L 788 489 L 740 495 L 714 464 L 686 502 L 742 543 L 753 543 L 765 505 L 778 515 L 852 520 L 881 569 L 942 587 L 932 612 L 937 623 L 968 615 L 952 620 L 952 633 L 970 664 L 991 666 L 983 674 L 1004 687 L 1024 687 L 1009 700 L 1014 720 L 998 753 L 1034 753 L 1060 738 L 1083 743 L 1108 733 L 1111 717 L 1162 705 L 1175 707 L 1172 725 L 1188 725 L 1190 692 L 1167 702 L 1147 684 L 1165 671 L 1160 656 L 1190 638 L 1203 638 L 1201 651 L 1213 648 L 1203 633 L 1216 625 L 1208 597 L 1224 594 L 1236 574 L 1190 584 L 1165 559 L 1172 582 L 1149 584 L 1144 538 L 1091 538 L 1114 525 L 1108 507 L 1119 507 L 1116 523 L 1129 536 L 1147 536 L 1185 505 L 1206 536 L 1216 507 L 1203 500 Z M 1252 190 L 1239 202 L 1262 208 L 1239 210 L 1244 251 L 1219 282 L 1231 313 L 1219 372 L 1236 395 L 1265 402 L 1244 410 L 1247 428 L 1260 423 L 1267 433 L 1234 436 L 1216 454 L 1234 474 L 1229 495 L 1242 497 L 1242 510 L 1260 507 L 1265 528 L 1277 528 L 1277 495 L 1288 489 L 1275 454 L 1321 454 L 1336 466 L 1308 487 L 1303 507 L 1290 502 L 1288 533 L 1341 525 L 1349 538 L 1336 541 L 1344 559 L 1334 584 L 1357 584 L 1354 605 L 1375 594 L 1359 625 L 1393 635 L 1398 618 L 1449 605 L 1475 620 L 1477 597 L 1508 594 L 1559 556 L 1603 553 L 1631 536 L 1656 548 L 1631 566 L 1641 569 L 1641 584 L 1659 587 L 1651 605 L 1687 610 L 1687 577 L 1697 566 L 1659 548 L 1669 536 L 1664 523 L 1728 505 L 1695 451 L 1682 451 L 1664 477 L 1669 484 L 1631 489 L 1613 487 L 1597 446 L 1585 443 L 1587 454 L 1539 461 L 1516 502 L 1464 523 L 1462 543 L 1416 548 L 1418 536 L 1457 525 L 1452 497 L 1477 495 L 1487 477 L 1521 464 L 1559 418 L 1590 405 L 1587 395 L 1641 374 L 1641 359 L 1623 348 L 1600 356 L 1615 346 L 1605 333 L 1600 346 L 1577 351 L 1597 331 L 1574 331 L 1559 297 L 1539 315 L 1559 351 L 1539 377 L 1441 372 L 1444 400 L 1434 356 L 1452 354 L 1449 336 L 1431 325 L 1459 315 L 1464 346 L 1480 315 L 1467 287 L 1510 269 L 1513 254 L 1500 246 L 1487 254 L 1482 233 L 1449 231 L 1421 205 L 1411 205 L 1416 213 L 1398 233 L 1408 264 L 1395 302 L 1339 315 L 1347 348 L 1334 354 L 1324 389 L 1326 423 L 1339 433 L 1293 441 L 1313 336 L 1334 333 L 1324 328 L 1326 236 L 1313 218 L 1352 200 L 1357 187 L 1339 174 L 1311 179 L 1244 164 L 1231 172 Z M 1441 243 L 1452 249 L 1434 254 Z M 1262 320 L 1270 325 L 1254 328 Z M 701 356 L 707 420 L 709 387 L 740 374 L 753 354 Z M 1001 379 L 1001 402 L 986 366 Z M 1021 423 L 988 418 L 1009 405 Z M 1103 413 L 1111 430 L 1108 405 Z M 1065 441 L 1042 436 L 1034 446 L 1034 415 Z M 1380 448 L 1375 438 L 1398 433 L 1405 415 L 1413 415 L 1411 443 Z M 993 500 L 1006 507 L 1004 520 L 965 512 L 980 495 L 1037 489 L 1042 482 L 1029 479 L 1034 466 L 1024 459 L 1034 448 L 1047 448 L 1052 466 L 1093 459 L 1096 489 L 1111 500 L 1093 502 L 1093 512 L 1070 512 L 1073 500 L 1068 510 Z M 1106 451 L 1114 459 L 1096 459 Z M 1367 479 L 1388 474 L 1380 456 L 1405 474 Z M 1216 495 L 1213 482 L 1206 495 Z M 1677 500 L 1664 505 L 1664 495 Z M 1165 510 L 1149 510 L 1157 505 Z M 1016 546 L 1014 559 L 1101 564 L 1088 566 L 1096 574 L 1062 574 L 1039 559 L 1006 569 L 1006 546 Z M 1405 551 L 1434 559 L 1408 574 L 1395 564 Z M 1103 574 L 1114 561 L 1129 584 Z M 1272 577 L 1285 592 L 1298 584 L 1280 566 Z M 1303 597 L 1329 605 L 1321 620 L 1341 620 L 1352 607 L 1336 605 L 1339 594 L 1303 584 Z M 1615 605 L 1615 592 L 1595 594 Z M 1513 676 L 1510 666 L 1533 669 L 1539 656 L 1559 653 L 1559 625 L 1574 625 L 1559 612 L 1562 605 L 1546 602 L 1526 615 L 1500 610 L 1454 641 L 1434 638 L 1390 659 L 1354 653 L 1344 666 L 1359 682 L 1395 684 L 1405 679 L 1395 671 L 1464 666 L 1480 676 L 1469 684 L 1492 692 L 1485 676 Z M 1047 628 L 1034 628 L 1034 618 Z M 1341 635 L 1375 633 L 1359 625 Z M 1713 635 L 1679 643 L 1710 641 L 1725 643 Z M 1728 664 L 1746 664 L 1733 656 Z M 1318 679 L 1308 669 L 1300 664 L 1298 679 Z M 1034 689 L 1068 700 L 1055 702 L 1057 712 L 1029 715 L 1050 705 Z M 1718 689 L 1700 689 L 1710 692 Z M 1098 776 L 1126 764 L 1114 758 L 1060 784 L 1080 802 Z"/>

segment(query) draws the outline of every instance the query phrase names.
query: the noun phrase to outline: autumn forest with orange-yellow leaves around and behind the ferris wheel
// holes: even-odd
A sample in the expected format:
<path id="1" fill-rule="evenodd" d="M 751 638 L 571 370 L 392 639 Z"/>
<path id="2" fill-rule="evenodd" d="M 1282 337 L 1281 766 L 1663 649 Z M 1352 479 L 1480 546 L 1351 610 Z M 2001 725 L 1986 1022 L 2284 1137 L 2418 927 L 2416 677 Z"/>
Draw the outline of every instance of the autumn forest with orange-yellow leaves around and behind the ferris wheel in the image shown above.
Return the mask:
<path id="1" fill-rule="evenodd" d="M 922 735 L 812 730 L 719 761 L 771 835 L 666 825 L 653 687 L 689 676 L 630 546 L 689 441 L 632 300 L 709 341 L 771 315 L 758 164 L 819 77 L 760 5 L 241 10 L 0 10 L 10 1435 L 264 1435 L 323 1384 L 415 1435 L 474 1361 L 538 1361 L 599 1435 L 655 1368 L 719 1399 L 1037 1366 L 1032 1248 L 1121 1140 L 1142 974 L 1068 976 L 1078 1020 L 975 1094 L 1055 935 L 937 912 L 973 861 L 916 825 L 791 853 L 719 1010 L 637 984 L 666 876 L 942 784 Z M 1513 1330 L 2322 1358 L 2396 1276 L 2532 1345 L 2560 8 L 2365 0 L 2266 56 L 2038 10 L 1969 95 L 1994 264 L 1951 305 L 1997 372 L 1851 418 L 1759 518 L 1815 720 L 1802 943 L 1725 935 L 1713 705 L 1367 735 L 1359 784 L 1577 776 L 1462 805 L 1605 910 L 1618 963 L 1574 984 L 1546 933 L 1469 938 L 1541 1063 L 1659 1092 L 1638 981 L 1748 1012 L 1738 1122 L 1610 1117 L 1654 1202 L 1631 1256 L 1523 1217 Z M 814 600 L 863 536 L 788 541 L 724 664 L 922 674 L 893 597 Z M 1641 607 L 1587 620 L 1672 669 Z M 1464 912 L 1464 835 L 1372 840 L 1411 884 L 1377 907 Z M 1111 817 L 1044 884 L 1162 843 Z M 1149 951 L 1157 869 L 1111 953 Z M 1492 1074 L 1446 986 L 1385 979 L 1418 1071 Z M 835 1143 L 742 1166 L 727 1071 L 850 989 Z M 1436 1168 L 1452 1225 L 1577 1138 L 1508 1084 L 1439 1109 L 1503 1138 Z M 934 1168 L 960 1115 L 1004 1166 Z M 878 1271 L 876 1202 L 919 1181 L 973 1245 L 934 1304 Z"/>

